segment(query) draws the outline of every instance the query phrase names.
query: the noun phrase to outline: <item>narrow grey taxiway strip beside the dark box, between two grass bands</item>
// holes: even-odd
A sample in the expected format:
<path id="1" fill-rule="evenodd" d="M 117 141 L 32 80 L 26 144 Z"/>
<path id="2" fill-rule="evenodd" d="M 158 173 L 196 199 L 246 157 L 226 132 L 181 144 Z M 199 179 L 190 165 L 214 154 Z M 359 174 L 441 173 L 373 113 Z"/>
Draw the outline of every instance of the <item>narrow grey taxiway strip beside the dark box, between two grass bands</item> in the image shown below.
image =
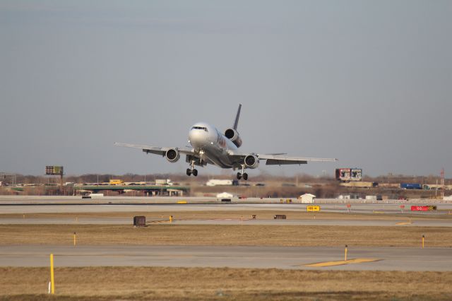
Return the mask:
<path id="1" fill-rule="evenodd" d="M 147 219 L 148 225 L 153 223 L 169 223 L 169 220 Z M 131 225 L 131 218 L 0 218 L 0 225 Z M 203 219 L 203 220 L 173 220 L 173 225 L 338 225 L 338 226 L 400 226 L 400 227 L 452 227 L 451 220 L 415 220 L 409 223 L 406 218 L 400 220 L 348 220 L 347 216 L 340 219 Z"/>

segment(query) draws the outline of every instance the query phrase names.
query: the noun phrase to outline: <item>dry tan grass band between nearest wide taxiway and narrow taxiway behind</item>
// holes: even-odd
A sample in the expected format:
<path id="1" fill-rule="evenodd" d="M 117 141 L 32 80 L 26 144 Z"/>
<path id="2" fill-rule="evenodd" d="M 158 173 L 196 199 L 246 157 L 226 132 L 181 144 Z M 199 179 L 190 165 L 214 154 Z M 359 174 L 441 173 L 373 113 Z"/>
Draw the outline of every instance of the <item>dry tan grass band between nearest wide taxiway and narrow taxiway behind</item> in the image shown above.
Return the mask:
<path id="1" fill-rule="evenodd" d="M 1 244 L 452 247 L 450 228 L 304 225 L 0 225 Z"/>

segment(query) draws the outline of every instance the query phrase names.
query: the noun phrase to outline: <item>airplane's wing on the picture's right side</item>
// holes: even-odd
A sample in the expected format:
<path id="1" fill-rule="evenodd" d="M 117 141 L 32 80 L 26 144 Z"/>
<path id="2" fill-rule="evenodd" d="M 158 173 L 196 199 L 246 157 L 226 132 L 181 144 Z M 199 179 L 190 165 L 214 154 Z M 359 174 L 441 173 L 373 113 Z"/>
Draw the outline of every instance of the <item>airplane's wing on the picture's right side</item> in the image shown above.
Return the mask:
<path id="1" fill-rule="evenodd" d="M 256 155 L 259 160 L 266 160 L 266 165 L 290 165 L 290 164 L 307 164 L 308 162 L 334 162 L 335 158 L 305 158 L 291 157 L 285 154 L 259 154 L 259 153 L 239 153 L 228 151 L 234 161 L 242 163 L 247 155 Z"/>

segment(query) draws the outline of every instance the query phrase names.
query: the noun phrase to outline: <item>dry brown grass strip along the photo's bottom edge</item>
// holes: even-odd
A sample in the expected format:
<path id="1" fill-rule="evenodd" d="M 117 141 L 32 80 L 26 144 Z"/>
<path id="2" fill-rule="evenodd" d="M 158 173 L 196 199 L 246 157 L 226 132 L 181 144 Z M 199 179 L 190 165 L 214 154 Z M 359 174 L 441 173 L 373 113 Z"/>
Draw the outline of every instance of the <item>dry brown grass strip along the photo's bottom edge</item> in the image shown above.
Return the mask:
<path id="1" fill-rule="evenodd" d="M 452 272 L 0 268 L 0 300 L 451 300 Z"/>

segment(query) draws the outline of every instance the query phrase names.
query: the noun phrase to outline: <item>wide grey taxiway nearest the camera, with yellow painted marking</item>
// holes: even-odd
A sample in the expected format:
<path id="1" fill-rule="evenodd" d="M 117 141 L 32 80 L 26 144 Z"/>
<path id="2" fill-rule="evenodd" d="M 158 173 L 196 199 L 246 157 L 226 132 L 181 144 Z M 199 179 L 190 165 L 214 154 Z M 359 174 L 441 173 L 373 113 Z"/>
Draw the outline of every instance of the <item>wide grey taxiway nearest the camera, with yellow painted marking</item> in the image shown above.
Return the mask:
<path id="1" fill-rule="evenodd" d="M 209 247 L 209 246 L 40 246 L 0 247 L 0 266 L 181 266 L 232 268 L 328 269 L 354 271 L 452 271 L 452 249 L 348 249 L 348 259 L 373 262 L 310 268 L 305 265 L 341 261 L 343 248 Z"/>

